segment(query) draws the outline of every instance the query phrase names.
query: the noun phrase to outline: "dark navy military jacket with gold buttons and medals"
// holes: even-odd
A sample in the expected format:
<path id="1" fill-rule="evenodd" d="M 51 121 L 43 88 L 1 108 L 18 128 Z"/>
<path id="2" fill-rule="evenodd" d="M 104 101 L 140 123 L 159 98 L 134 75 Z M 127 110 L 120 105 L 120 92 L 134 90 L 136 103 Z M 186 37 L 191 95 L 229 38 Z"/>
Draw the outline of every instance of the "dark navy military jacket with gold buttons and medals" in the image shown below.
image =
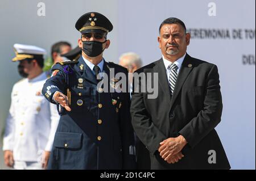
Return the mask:
<path id="1" fill-rule="evenodd" d="M 98 92 L 97 79 L 82 57 L 61 64 L 53 66 L 56 75 L 42 92 L 51 103 L 56 91 L 68 95 L 71 112 L 60 111 L 48 169 L 134 169 L 129 92 Z M 110 68 L 127 78 L 126 69 L 104 61 L 107 75 Z"/>

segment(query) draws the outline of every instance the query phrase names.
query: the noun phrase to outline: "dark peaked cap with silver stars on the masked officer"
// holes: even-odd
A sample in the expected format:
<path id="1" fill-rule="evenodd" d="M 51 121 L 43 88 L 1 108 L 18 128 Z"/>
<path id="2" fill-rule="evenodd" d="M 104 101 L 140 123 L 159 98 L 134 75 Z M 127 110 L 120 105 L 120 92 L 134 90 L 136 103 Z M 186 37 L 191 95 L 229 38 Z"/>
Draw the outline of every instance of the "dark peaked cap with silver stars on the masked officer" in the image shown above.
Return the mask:
<path id="1" fill-rule="evenodd" d="M 110 20 L 99 12 L 88 12 L 82 15 L 77 20 L 75 27 L 81 33 L 108 33 L 113 30 Z"/>

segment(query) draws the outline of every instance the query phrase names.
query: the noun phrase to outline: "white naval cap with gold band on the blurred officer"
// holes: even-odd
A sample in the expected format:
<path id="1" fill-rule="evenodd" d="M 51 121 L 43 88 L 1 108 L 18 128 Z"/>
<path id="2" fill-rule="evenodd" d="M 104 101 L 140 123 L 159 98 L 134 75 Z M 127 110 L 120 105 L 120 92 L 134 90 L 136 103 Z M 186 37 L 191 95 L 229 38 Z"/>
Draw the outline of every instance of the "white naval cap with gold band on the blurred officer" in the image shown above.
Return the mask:
<path id="1" fill-rule="evenodd" d="M 20 60 L 32 60 L 32 59 L 42 59 L 43 55 L 46 54 L 46 50 L 34 45 L 23 45 L 23 44 L 14 44 L 14 52 L 16 56 L 13 58 L 13 61 Z"/>

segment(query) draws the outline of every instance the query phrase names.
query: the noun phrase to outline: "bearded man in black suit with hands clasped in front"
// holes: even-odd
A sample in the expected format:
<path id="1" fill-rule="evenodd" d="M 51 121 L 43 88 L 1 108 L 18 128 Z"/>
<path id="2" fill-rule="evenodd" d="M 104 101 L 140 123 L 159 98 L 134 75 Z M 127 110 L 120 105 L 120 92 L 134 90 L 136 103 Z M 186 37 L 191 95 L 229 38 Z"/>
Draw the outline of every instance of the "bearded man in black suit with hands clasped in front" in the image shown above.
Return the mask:
<path id="1" fill-rule="evenodd" d="M 190 35 L 181 20 L 164 20 L 159 34 L 162 58 L 136 71 L 145 76 L 134 76 L 130 109 L 151 169 L 230 169 L 214 129 L 222 113 L 217 66 L 186 53 Z M 152 99 L 141 87 L 155 81 Z"/>

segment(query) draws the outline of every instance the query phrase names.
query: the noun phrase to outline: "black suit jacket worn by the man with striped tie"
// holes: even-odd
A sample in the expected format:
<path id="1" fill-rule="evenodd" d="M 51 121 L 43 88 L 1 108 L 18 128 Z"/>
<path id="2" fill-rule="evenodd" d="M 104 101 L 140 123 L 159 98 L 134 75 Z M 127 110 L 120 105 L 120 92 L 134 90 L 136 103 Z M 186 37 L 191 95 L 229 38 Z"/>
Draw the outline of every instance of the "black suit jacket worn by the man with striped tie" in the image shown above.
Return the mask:
<path id="1" fill-rule="evenodd" d="M 217 66 L 185 56 L 177 77 L 174 94 L 170 95 L 166 68 L 162 58 L 137 70 L 146 81 L 158 78 L 158 96 L 148 99 L 148 91 L 136 90 L 131 99 L 132 124 L 137 136 L 151 153 L 151 169 L 230 169 L 215 127 L 221 120 L 222 100 Z M 168 164 L 159 155 L 159 143 L 168 137 L 184 136 L 188 144 L 181 150 L 185 157 Z M 216 153 L 216 163 L 210 150 Z"/>

